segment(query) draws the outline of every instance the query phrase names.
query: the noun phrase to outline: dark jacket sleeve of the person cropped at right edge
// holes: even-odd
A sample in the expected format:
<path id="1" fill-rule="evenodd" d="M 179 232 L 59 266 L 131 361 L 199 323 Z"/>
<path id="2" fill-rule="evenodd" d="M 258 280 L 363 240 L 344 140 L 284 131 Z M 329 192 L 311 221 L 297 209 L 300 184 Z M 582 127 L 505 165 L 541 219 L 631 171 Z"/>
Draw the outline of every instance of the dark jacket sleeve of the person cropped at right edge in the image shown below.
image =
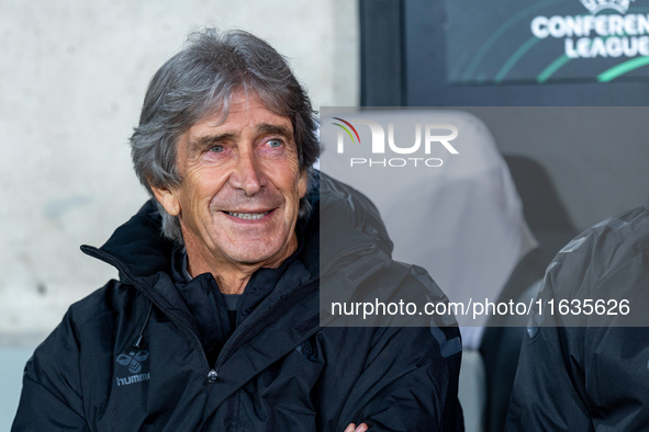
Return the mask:
<path id="1" fill-rule="evenodd" d="M 593 265 L 595 237 L 586 230 L 555 257 L 538 299 L 589 298 L 603 265 Z M 601 248 L 598 246 L 597 248 Z M 585 364 L 588 316 L 558 308 L 535 311 L 523 337 L 505 431 L 592 431 Z"/>

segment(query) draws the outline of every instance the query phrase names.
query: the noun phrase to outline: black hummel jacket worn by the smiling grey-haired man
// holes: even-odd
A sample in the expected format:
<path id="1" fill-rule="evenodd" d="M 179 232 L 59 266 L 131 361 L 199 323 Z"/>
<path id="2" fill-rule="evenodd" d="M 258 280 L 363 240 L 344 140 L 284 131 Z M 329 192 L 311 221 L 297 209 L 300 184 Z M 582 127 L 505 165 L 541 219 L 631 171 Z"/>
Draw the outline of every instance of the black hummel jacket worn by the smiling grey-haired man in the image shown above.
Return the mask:
<path id="1" fill-rule="evenodd" d="M 36 349 L 12 430 L 343 431 L 362 421 L 372 431 L 461 430 L 457 328 L 320 327 L 320 285 L 360 288 L 395 274 L 415 291 L 424 284 L 417 269 L 385 258 L 391 243 L 367 198 L 324 175 L 320 196 L 317 189 L 300 260 L 213 364 L 172 283 L 172 245 L 153 204 L 102 248 L 82 247 L 114 265 L 120 281 L 72 305 Z M 339 218 L 338 250 L 321 251 L 324 214 Z M 383 265 L 362 265 L 377 257 Z"/>

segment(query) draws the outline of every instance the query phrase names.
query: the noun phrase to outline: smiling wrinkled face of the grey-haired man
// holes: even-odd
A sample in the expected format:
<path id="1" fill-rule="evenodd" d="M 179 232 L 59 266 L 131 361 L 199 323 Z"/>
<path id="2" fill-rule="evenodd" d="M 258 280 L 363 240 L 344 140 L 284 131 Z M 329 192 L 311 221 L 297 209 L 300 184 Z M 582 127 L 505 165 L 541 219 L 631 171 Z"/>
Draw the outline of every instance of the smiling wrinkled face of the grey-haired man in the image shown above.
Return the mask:
<path id="1" fill-rule="evenodd" d="M 203 120 L 180 138 L 182 183 L 170 191 L 171 212 L 163 205 L 179 215 L 188 251 L 210 255 L 199 259 L 277 266 L 296 247 L 306 192 L 291 121 L 236 92 L 219 122 Z"/>

